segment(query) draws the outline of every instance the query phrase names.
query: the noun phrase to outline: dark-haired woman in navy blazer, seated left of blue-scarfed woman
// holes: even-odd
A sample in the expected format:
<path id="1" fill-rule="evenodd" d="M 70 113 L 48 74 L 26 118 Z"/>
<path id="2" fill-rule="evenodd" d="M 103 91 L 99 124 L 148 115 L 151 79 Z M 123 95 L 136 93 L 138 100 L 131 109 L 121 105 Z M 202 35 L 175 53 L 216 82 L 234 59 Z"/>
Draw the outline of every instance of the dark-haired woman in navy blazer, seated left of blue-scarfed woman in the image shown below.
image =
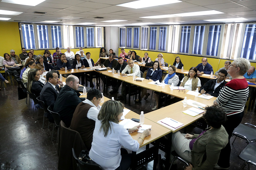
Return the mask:
<path id="1" fill-rule="evenodd" d="M 161 81 L 162 70 L 160 69 L 158 61 L 153 62 L 153 68 L 148 69 L 145 79 L 151 80 L 151 81 L 157 81 L 157 80 Z M 150 93 L 147 93 L 147 88 L 141 88 L 141 100 L 145 95 L 146 95 L 146 97 L 144 99 L 146 100 L 148 98 L 148 96 L 150 95 Z M 135 102 L 139 102 L 139 99 L 135 100 Z"/>

